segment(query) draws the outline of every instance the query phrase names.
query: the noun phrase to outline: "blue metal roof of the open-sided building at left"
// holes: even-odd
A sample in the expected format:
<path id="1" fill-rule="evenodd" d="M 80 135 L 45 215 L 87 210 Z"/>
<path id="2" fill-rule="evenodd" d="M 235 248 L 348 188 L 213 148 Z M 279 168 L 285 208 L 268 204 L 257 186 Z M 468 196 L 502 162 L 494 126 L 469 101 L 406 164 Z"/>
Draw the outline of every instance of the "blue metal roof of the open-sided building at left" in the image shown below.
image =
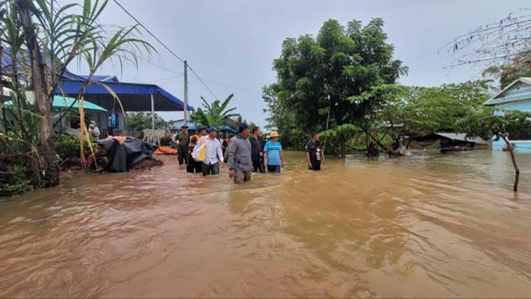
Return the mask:
<path id="1" fill-rule="evenodd" d="M 77 97 L 79 90 L 83 86 L 84 80 L 71 80 L 68 78 L 81 77 L 69 73 L 61 80 L 61 88 L 69 97 Z M 108 76 L 107 76 L 108 77 Z M 107 85 L 118 95 L 125 111 L 151 111 L 151 95 L 155 103 L 155 111 L 183 111 L 184 103 L 171 93 L 168 93 L 158 85 L 123 83 L 113 81 L 92 80 L 85 89 L 85 96 L 96 105 L 100 105 L 107 110 L 119 110 L 120 106 L 110 93 L 100 84 Z M 61 89 L 56 88 L 56 94 L 61 95 Z M 193 107 L 188 106 L 192 111 Z"/>

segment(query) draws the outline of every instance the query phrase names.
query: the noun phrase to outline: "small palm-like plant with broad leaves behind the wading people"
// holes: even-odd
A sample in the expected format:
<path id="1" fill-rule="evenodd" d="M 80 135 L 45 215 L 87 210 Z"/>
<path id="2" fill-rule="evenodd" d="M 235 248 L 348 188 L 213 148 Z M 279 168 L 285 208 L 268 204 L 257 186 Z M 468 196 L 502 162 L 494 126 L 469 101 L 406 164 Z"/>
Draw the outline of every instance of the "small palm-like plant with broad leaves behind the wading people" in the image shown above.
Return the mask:
<path id="1" fill-rule="evenodd" d="M 236 107 L 227 109 L 227 105 L 229 105 L 233 96 L 234 93 L 230 94 L 223 103 L 220 100 L 215 100 L 212 104 L 209 104 L 205 98 L 201 97 L 203 108 L 197 108 L 193 112 L 192 122 L 211 127 L 227 125 L 230 117 L 239 117 L 238 113 L 233 113 Z"/>

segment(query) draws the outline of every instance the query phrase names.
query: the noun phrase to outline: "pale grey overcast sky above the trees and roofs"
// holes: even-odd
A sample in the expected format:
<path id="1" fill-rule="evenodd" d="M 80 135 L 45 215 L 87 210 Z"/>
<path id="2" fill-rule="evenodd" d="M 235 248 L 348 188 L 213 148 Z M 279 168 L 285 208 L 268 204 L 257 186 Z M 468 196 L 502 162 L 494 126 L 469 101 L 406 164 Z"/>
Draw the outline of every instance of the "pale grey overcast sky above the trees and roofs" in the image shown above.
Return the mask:
<path id="1" fill-rule="evenodd" d="M 235 1 L 235 0 L 120 0 L 155 35 L 170 46 L 205 80 L 218 98 L 234 93 L 232 105 L 249 121 L 264 125 L 261 91 L 276 75 L 272 61 L 278 58 L 282 41 L 310 33 L 316 36 L 322 23 L 337 19 L 346 25 L 352 19 L 364 24 L 375 17 L 385 21 L 385 31 L 396 46 L 394 56 L 409 66 L 406 85 L 435 86 L 479 77 L 477 69 L 445 69 L 457 56 L 438 54 L 455 36 L 478 25 L 502 19 L 510 12 L 530 6 L 529 0 L 395 0 L 395 1 Z M 133 25 L 113 1 L 103 23 Z M 123 75 L 108 65 L 100 74 L 117 73 L 123 81 L 155 83 L 182 99 L 183 66 L 147 34 L 158 49 L 150 58 L 157 65 L 140 63 L 138 70 L 125 66 Z M 72 69 L 83 73 L 83 70 Z M 213 96 L 190 75 L 190 104 L 200 105 L 200 96 Z M 182 118 L 182 112 L 161 113 L 167 120 Z"/>

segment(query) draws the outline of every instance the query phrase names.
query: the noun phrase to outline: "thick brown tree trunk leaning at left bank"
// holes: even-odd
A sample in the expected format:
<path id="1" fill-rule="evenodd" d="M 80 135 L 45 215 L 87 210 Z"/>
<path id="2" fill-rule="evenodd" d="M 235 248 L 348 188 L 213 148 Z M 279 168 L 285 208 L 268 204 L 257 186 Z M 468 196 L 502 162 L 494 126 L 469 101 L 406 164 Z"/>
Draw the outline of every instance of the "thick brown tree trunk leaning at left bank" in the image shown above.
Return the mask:
<path id="1" fill-rule="evenodd" d="M 21 25 L 24 28 L 26 44 L 31 62 L 31 85 L 35 93 L 35 106 L 41 115 L 39 130 L 39 150 L 43 158 L 43 183 L 45 187 L 53 187 L 59 184 L 60 168 L 53 148 L 53 127 L 51 120 L 51 105 L 48 98 L 46 77 L 44 75 L 44 63 L 41 48 L 36 38 L 35 28 L 31 20 L 28 0 L 17 1 L 17 10 Z"/>

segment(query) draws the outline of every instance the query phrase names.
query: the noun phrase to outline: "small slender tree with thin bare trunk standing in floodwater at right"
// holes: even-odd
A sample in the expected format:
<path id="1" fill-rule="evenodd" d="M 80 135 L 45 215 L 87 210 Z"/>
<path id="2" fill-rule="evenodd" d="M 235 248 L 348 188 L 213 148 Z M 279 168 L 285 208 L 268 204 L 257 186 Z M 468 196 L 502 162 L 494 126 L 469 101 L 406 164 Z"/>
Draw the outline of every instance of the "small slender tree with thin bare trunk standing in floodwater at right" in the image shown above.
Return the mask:
<path id="1" fill-rule="evenodd" d="M 520 179 L 520 168 L 515 159 L 515 149 L 508 140 L 510 135 L 529 134 L 531 132 L 530 115 L 519 111 L 495 112 L 489 107 L 476 110 L 469 113 L 456 123 L 458 132 L 466 133 L 467 137 L 480 137 L 485 140 L 491 137 L 494 140 L 503 140 L 505 148 L 510 152 L 512 166 L 515 169 L 515 184 L 512 188 L 514 192 L 518 191 L 518 182 Z"/>

